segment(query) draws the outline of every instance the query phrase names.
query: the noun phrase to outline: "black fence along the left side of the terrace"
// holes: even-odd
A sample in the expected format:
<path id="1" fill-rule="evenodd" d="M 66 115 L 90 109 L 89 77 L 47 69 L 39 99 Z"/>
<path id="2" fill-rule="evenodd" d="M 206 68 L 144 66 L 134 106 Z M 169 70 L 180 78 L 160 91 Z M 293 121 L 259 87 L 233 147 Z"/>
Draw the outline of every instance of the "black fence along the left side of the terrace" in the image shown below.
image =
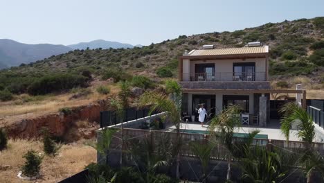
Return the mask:
<path id="1" fill-rule="evenodd" d="M 149 114 L 150 109 L 144 108 L 144 109 L 138 109 L 136 107 L 131 107 L 125 110 L 123 114 L 123 122 L 125 121 L 132 121 L 141 119 L 143 117 L 158 114 L 159 112 L 154 111 L 151 114 Z M 102 111 L 100 112 L 100 128 L 107 127 L 109 125 L 116 125 L 120 123 L 121 119 L 120 116 L 115 111 Z"/>

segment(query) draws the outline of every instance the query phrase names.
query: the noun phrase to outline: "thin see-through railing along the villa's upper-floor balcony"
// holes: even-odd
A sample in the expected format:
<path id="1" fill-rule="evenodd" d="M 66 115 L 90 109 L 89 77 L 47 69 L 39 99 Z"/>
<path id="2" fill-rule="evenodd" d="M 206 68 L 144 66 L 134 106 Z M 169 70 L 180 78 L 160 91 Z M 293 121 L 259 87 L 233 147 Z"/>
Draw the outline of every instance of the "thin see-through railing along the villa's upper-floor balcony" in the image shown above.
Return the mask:
<path id="1" fill-rule="evenodd" d="M 265 81 L 265 72 L 183 73 L 183 81 Z"/>

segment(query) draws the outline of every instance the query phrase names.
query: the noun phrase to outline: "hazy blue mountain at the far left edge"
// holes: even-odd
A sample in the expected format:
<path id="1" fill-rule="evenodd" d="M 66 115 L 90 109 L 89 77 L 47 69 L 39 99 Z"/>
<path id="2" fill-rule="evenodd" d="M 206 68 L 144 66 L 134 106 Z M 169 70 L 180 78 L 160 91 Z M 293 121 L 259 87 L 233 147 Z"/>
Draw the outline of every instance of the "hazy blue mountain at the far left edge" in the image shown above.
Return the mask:
<path id="1" fill-rule="evenodd" d="M 14 40 L 0 39 L 0 69 L 28 64 L 71 51 L 67 46 L 53 44 L 23 44 Z"/>

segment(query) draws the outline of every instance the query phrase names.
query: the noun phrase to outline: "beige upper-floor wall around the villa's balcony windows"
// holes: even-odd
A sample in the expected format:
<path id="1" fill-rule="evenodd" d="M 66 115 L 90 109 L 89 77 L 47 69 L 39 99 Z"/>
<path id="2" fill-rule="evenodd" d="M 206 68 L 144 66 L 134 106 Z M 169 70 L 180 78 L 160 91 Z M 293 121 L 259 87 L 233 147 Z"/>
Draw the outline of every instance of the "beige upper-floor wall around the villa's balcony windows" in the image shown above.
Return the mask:
<path id="1" fill-rule="evenodd" d="M 215 63 L 215 73 L 223 73 L 223 81 L 233 80 L 233 63 L 238 62 L 255 62 L 255 73 L 257 78 L 255 80 L 265 80 L 266 73 L 266 59 L 265 58 L 251 58 L 251 59 L 228 59 L 228 60 L 183 60 L 183 81 L 189 80 L 188 73 L 195 73 L 195 64 Z M 188 66 L 190 64 L 190 66 Z M 189 68 L 188 68 L 189 67 Z M 226 74 L 228 73 L 228 74 Z M 217 74 L 216 74 L 217 77 Z"/>

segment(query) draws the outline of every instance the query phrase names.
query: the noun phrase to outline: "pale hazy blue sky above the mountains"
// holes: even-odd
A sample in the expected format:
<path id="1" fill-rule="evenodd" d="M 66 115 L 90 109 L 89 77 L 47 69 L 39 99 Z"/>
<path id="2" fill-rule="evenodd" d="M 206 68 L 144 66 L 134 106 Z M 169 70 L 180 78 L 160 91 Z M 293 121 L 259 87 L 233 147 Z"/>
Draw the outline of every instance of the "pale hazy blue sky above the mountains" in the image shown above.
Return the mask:
<path id="1" fill-rule="evenodd" d="M 28 44 L 103 39 L 147 45 L 319 16 L 324 16 L 324 0 L 0 0 L 0 38 Z"/>

